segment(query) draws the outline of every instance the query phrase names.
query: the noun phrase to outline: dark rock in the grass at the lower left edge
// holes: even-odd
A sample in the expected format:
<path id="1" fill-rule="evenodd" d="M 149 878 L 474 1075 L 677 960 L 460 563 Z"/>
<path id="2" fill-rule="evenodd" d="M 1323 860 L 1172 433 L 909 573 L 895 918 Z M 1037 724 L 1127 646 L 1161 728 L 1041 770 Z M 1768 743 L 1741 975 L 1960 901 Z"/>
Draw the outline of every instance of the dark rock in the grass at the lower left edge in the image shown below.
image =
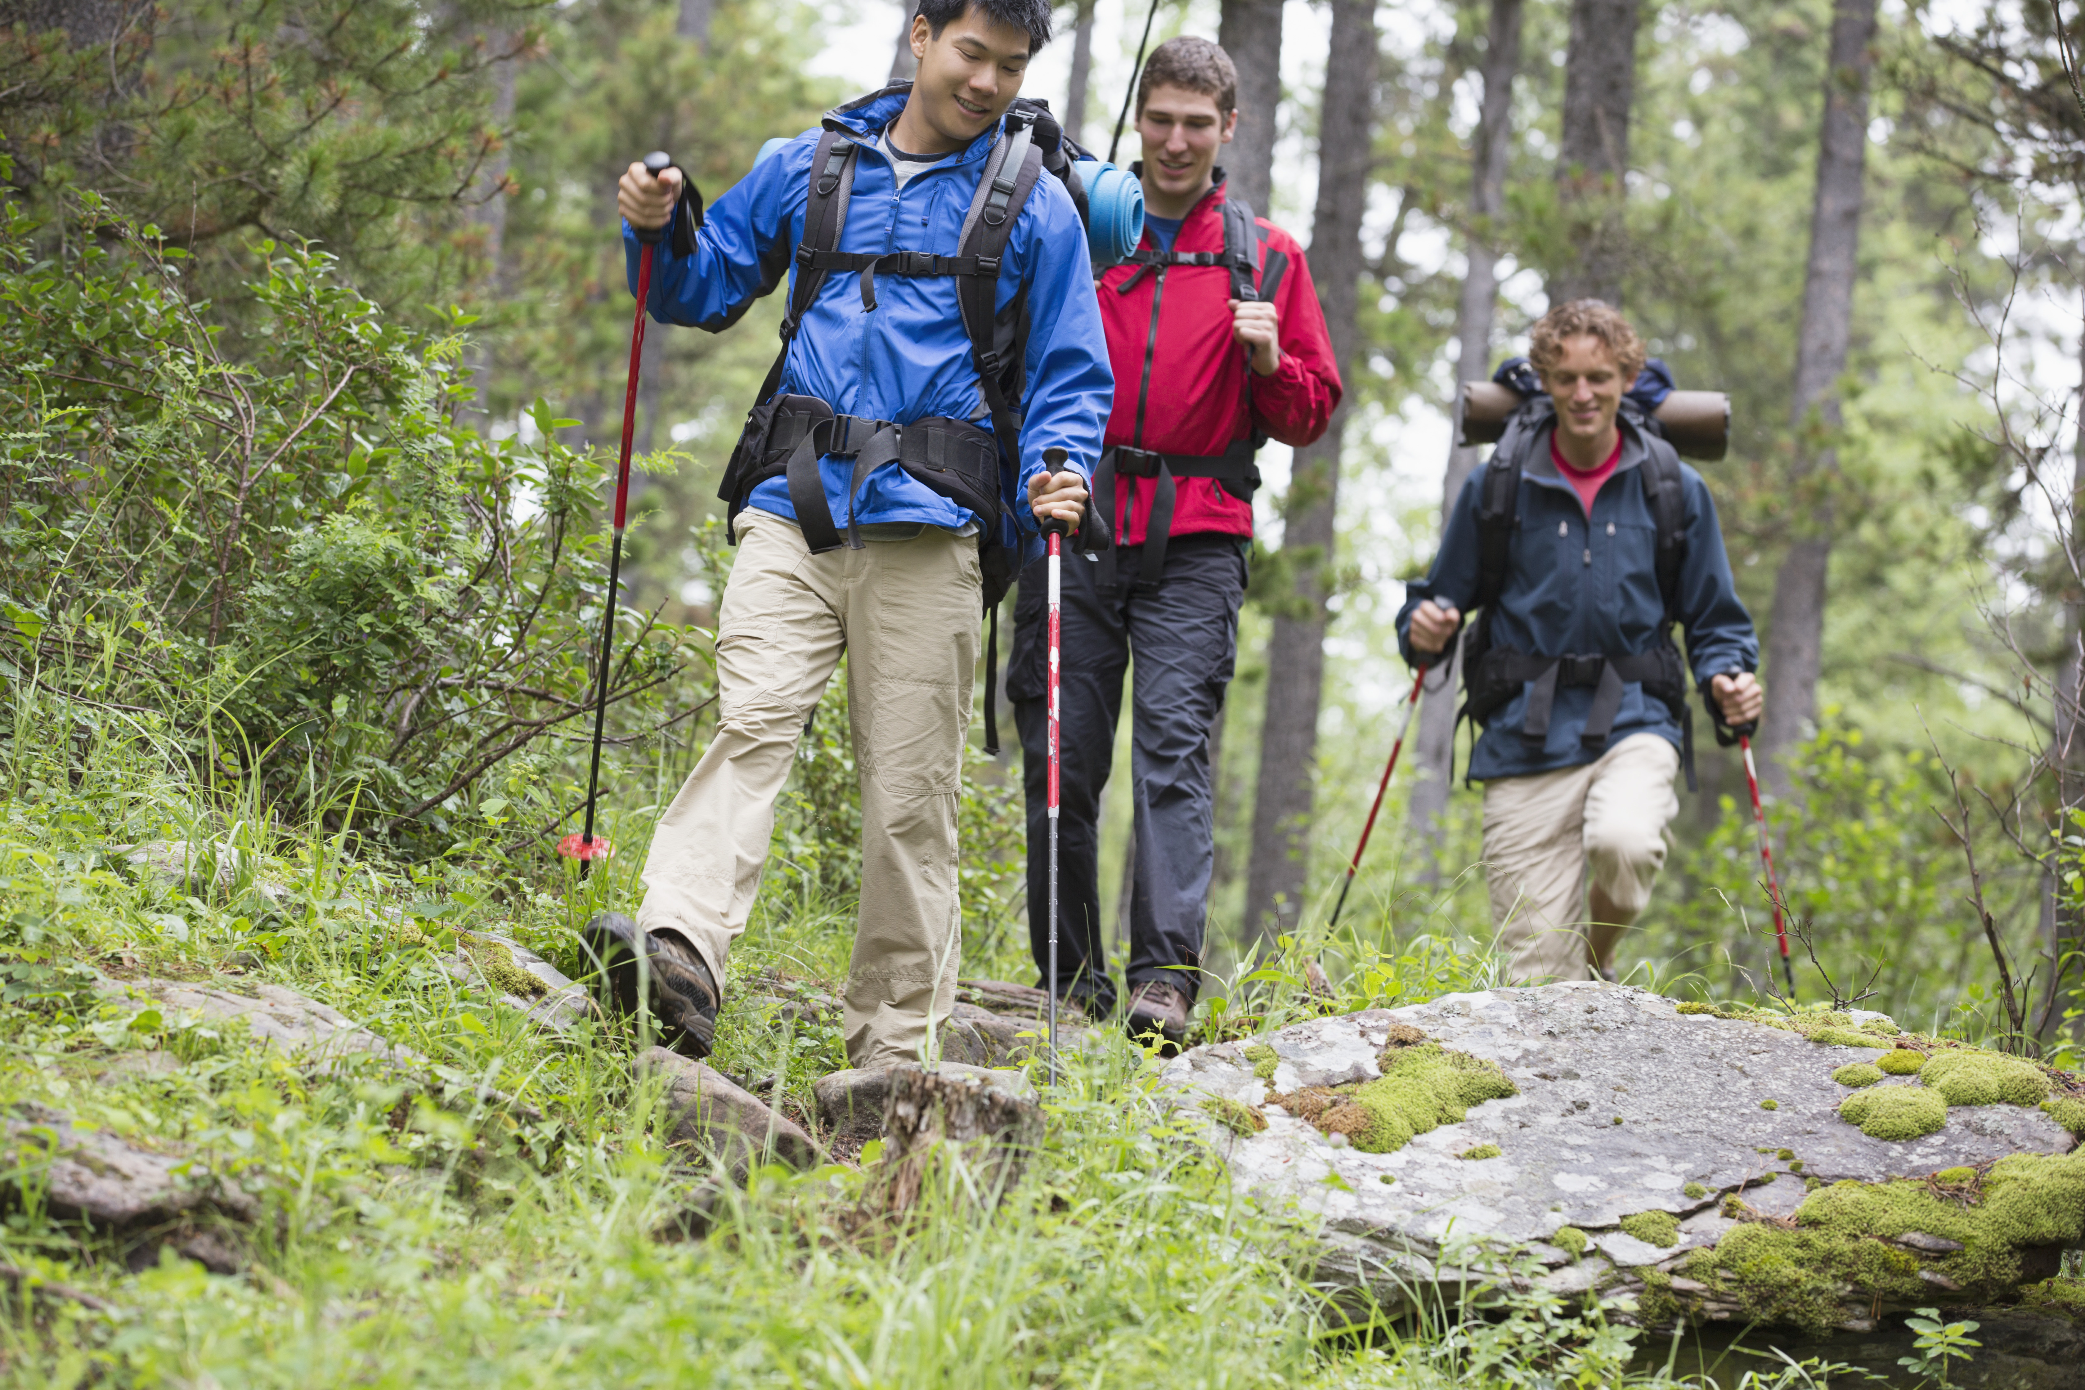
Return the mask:
<path id="1" fill-rule="evenodd" d="M 152 1152 L 106 1130 L 77 1127 L 35 1104 L 6 1119 L 6 1186 L 15 1200 L 35 1196 L 58 1217 L 131 1230 L 217 1211 L 242 1221 L 256 1202 L 186 1157 Z"/>

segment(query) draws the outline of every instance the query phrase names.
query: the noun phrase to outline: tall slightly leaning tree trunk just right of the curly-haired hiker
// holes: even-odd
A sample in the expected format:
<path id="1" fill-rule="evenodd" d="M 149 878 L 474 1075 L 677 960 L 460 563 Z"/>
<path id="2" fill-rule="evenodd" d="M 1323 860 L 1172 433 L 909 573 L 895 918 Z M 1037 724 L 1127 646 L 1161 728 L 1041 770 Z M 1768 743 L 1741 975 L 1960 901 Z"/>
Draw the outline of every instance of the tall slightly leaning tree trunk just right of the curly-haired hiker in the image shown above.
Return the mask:
<path id="1" fill-rule="evenodd" d="M 1806 736 L 1816 715 L 1824 656 L 1824 588 L 1831 567 L 1831 479 L 1839 471 L 1839 377 L 1854 327 L 1854 275 L 1860 252 L 1860 200 L 1868 158 L 1868 77 L 1874 71 L 1874 0 L 1837 0 L 1831 21 L 1831 63 L 1824 75 L 1824 119 L 1818 131 L 1818 183 L 1810 208 L 1810 269 L 1804 275 L 1804 319 L 1795 344 L 1791 423 L 1795 463 L 1789 469 L 1791 515 L 1801 519 L 1795 544 L 1774 575 L 1774 606 L 1766 625 L 1766 715 L 1760 721 L 1760 775 L 1787 794 L 1783 756 Z M 1808 483 L 1808 486 L 1806 486 Z"/>

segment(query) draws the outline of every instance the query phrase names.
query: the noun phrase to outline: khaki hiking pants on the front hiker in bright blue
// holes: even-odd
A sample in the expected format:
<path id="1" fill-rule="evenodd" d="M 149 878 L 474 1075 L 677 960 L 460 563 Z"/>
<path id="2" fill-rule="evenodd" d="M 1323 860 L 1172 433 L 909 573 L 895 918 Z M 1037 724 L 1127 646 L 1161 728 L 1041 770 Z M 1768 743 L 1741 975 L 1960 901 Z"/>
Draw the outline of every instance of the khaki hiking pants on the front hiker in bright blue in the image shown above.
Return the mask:
<path id="1" fill-rule="evenodd" d="M 842 652 L 861 777 L 861 915 L 847 971 L 855 1067 L 917 1059 L 955 1007 L 955 798 L 970 736 L 978 542 L 938 527 L 811 554 L 742 511 L 717 629 L 717 736 L 659 819 L 638 925 L 680 932 L 717 982 L 746 929 L 803 725 Z"/>

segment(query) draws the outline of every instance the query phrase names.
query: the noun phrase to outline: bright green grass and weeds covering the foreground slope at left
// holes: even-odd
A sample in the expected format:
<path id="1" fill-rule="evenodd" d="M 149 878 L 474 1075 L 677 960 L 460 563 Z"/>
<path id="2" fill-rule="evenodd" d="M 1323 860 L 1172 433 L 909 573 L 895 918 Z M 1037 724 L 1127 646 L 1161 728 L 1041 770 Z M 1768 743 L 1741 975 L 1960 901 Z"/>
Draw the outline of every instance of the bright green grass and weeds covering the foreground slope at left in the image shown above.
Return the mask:
<path id="1" fill-rule="evenodd" d="M 1228 1190 L 1172 1123 L 1126 1040 L 1082 1052 L 1045 1096 L 1045 1152 L 988 1215 L 938 1190 L 899 1227 L 855 1217 L 863 1173 L 757 1169 L 705 1238 L 676 1215 L 715 1173 L 661 1138 L 644 1042 L 563 1038 L 461 988 L 436 957 L 500 929 L 580 973 L 573 927 L 630 907 L 644 834 L 592 879 L 498 861 L 407 865 L 352 823 L 271 821 L 167 771 L 150 717 L 77 725 L 17 688 L 0 811 L 0 1104 L 42 1104 L 234 1177 L 265 1217 L 206 1273 L 150 1240 L 79 1230 L 33 1202 L 0 1225 L 10 1384 L 776 1384 L 1257 1386 L 1660 1384 L 1626 1371 L 1639 1334 L 1555 1296 L 1485 1290 L 1487 1317 L 1370 1334 L 1309 1282 L 1307 1232 Z M 77 734 L 77 738 L 60 738 Z M 140 873 L 127 846 L 217 840 L 225 884 Z M 225 857 L 225 863 L 231 859 Z M 728 998 L 844 973 L 851 902 L 774 892 Z M 965 961 L 1013 973 L 1015 950 Z M 1232 1021 L 1301 1009 L 1289 967 L 1238 982 Z M 1341 1007 L 1482 984 L 1437 940 L 1343 971 Z M 427 1059 L 300 1069 L 236 1029 L 98 1002 L 94 973 L 277 982 Z M 1297 982 L 1301 984 L 1301 982 Z M 1251 998 L 1251 1009 L 1247 1009 Z M 1257 1015 L 1245 1023 L 1238 1015 Z M 1218 1019 L 1222 1019 L 1222 1011 Z M 836 1029 L 726 1009 L 715 1063 L 807 1086 L 844 1065 Z M 1040 1077 L 1038 1077 L 1040 1079 Z M 27 1298 L 58 1284 L 104 1302 Z M 1766 1365 L 1762 1371 L 1760 1365 Z M 1716 1384 L 1812 1384 L 1816 1369 L 1714 1367 Z M 1699 1367 L 1695 1367 L 1699 1371 Z"/>

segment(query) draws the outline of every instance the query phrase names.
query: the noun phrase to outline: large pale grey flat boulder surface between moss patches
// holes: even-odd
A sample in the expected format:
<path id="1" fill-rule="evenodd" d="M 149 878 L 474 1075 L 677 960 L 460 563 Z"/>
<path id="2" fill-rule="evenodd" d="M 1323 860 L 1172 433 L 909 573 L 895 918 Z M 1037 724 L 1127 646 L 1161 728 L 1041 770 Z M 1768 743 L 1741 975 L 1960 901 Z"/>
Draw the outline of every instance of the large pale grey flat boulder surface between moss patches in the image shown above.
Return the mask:
<path id="1" fill-rule="evenodd" d="M 1201 1113 L 1203 1096 L 1264 1107 L 1276 1090 L 1372 1079 L 1393 1021 L 1495 1061 L 1520 1094 L 1474 1107 L 1464 1123 L 1420 1134 L 1391 1155 L 1332 1148 L 1278 1107 L 1261 1111 L 1268 1127 L 1251 1138 Z M 1612 1232 L 1637 1211 L 1693 1217 L 1768 1173 L 1781 1175 L 1743 1196 L 1766 1215 L 1787 1215 L 1806 1194 L 1806 1175 L 1881 1182 L 2072 1146 L 2041 1111 L 2006 1104 L 1956 1109 L 1922 1140 L 1872 1140 L 1839 1119 L 1849 1092 L 1831 1073 L 1883 1048 L 1683 1015 L 1668 998 L 1601 982 L 1451 994 L 1311 1019 L 1255 1042 L 1276 1052 L 1272 1084 L 1253 1075 L 1241 1044 L 1211 1044 L 1170 1061 L 1161 1086 L 1199 1115 L 1241 1192 L 1293 1202 L 1318 1215 L 1322 1230 L 1370 1242 L 1405 1271 L 1464 1236 L 1528 1244 L 1560 1225 Z M 1455 1159 L 1476 1144 L 1497 1144 L 1501 1157 Z M 1783 1148 L 1804 1163 L 1801 1175 L 1785 1171 Z M 1689 1198 L 1689 1184 L 1708 1194 Z M 1691 1227 L 1687 1242 L 1712 1244 L 1714 1234 Z"/>

